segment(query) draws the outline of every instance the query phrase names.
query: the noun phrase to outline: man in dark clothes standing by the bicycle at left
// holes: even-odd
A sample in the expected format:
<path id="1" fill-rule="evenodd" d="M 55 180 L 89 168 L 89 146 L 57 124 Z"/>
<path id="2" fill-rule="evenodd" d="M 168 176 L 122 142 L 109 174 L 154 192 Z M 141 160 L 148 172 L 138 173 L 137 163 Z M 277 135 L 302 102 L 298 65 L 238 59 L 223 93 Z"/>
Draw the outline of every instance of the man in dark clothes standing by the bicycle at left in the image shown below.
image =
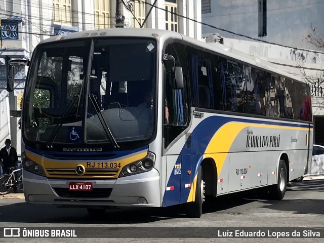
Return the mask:
<path id="1" fill-rule="evenodd" d="M 0 150 L 0 164 L 4 174 L 10 174 L 10 167 L 18 168 L 18 155 L 14 147 L 11 146 L 10 139 L 6 139 L 6 146 Z M 14 187 L 14 192 L 17 191 L 17 188 Z"/>

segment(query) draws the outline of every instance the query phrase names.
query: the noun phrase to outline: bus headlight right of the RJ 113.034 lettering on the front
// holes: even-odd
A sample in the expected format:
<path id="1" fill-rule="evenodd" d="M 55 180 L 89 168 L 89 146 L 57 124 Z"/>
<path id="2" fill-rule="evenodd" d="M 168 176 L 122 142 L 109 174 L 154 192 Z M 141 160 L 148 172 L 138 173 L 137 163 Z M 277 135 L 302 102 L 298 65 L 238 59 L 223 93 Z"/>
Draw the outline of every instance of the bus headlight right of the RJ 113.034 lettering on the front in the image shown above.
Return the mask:
<path id="1" fill-rule="evenodd" d="M 155 154 L 148 152 L 146 157 L 141 160 L 134 161 L 133 163 L 125 166 L 121 169 L 121 173 L 119 177 L 125 177 L 130 175 L 135 175 L 139 173 L 143 173 L 146 171 L 152 170 L 155 162 Z"/>

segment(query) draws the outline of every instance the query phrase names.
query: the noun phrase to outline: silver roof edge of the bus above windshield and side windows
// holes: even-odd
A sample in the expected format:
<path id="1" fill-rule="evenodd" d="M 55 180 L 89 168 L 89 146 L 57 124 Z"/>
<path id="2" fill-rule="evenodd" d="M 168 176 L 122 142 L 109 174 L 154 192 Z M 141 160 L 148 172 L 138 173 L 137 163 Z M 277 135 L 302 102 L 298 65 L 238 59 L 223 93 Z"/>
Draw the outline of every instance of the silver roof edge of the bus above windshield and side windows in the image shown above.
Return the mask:
<path id="1" fill-rule="evenodd" d="M 238 50 L 232 49 L 222 44 L 204 43 L 198 41 L 197 39 L 170 30 L 151 29 L 151 28 L 110 28 L 110 29 L 100 29 L 100 30 L 85 30 L 80 32 L 73 32 L 73 33 L 68 33 L 63 35 L 52 36 L 50 38 L 45 39 L 41 44 L 58 42 L 63 40 L 66 41 L 72 39 L 93 38 L 93 37 L 153 37 L 156 38 L 158 41 L 163 41 L 168 38 L 183 39 L 188 44 L 199 46 L 201 48 L 205 48 L 217 52 L 222 56 L 227 56 L 229 58 L 236 59 L 238 61 L 242 61 L 247 64 L 251 64 L 253 66 L 262 68 L 264 70 L 268 70 L 270 72 L 303 82 L 303 80 L 300 79 L 299 77 L 289 74 L 285 71 L 282 71 L 276 68 L 274 64 L 267 62 L 265 60 L 256 58 L 246 53 L 242 53 Z"/>

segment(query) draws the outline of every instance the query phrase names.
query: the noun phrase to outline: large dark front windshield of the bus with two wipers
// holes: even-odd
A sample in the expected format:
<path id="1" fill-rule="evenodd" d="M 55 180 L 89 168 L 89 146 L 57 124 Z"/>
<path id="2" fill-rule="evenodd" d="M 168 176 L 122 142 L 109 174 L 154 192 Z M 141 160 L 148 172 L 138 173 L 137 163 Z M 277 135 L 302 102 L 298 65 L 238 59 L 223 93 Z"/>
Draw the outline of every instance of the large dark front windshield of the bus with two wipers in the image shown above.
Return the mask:
<path id="1" fill-rule="evenodd" d="M 156 49 L 148 38 L 40 45 L 24 97 L 26 140 L 52 145 L 149 139 L 155 120 Z"/>

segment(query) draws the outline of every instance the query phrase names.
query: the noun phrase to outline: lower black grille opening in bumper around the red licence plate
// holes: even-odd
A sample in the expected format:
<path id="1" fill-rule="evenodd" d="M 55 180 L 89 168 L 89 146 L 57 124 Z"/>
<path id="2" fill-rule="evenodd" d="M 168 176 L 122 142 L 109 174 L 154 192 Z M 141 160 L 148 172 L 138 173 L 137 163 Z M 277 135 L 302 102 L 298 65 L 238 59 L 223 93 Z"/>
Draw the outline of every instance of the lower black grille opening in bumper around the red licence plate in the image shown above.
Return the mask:
<path id="1" fill-rule="evenodd" d="M 109 197 L 112 188 L 93 188 L 92 191 L 70 191 L 69 188 L 53 188 L 59 196 L 64 197 Z"/>

